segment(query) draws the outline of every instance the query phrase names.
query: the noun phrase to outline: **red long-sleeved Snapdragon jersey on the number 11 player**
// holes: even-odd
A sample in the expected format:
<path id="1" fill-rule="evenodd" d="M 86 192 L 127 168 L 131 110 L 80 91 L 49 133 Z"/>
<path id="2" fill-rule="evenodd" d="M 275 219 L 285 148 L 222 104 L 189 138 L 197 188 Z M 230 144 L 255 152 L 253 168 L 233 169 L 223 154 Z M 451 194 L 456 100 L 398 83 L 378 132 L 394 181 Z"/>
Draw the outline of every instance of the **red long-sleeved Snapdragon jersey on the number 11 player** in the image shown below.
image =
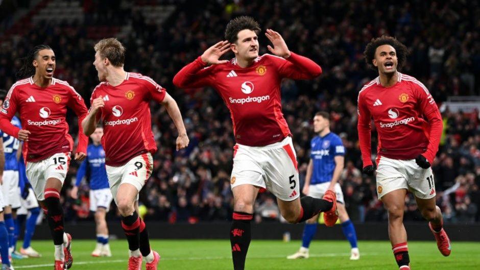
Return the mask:
<path id="1" fill-rule="evenodd" d="M 378 133 L 378 156 L 414 159 L 423 154 L 432 162 L 442 133 L 442 117 L 428 89 L 417 79 L 398 72 L 398 81 L 383 87 L 380 79 L 358 94 L 358 138 L 364 167 L 372 165 L 370 121 Z"/>

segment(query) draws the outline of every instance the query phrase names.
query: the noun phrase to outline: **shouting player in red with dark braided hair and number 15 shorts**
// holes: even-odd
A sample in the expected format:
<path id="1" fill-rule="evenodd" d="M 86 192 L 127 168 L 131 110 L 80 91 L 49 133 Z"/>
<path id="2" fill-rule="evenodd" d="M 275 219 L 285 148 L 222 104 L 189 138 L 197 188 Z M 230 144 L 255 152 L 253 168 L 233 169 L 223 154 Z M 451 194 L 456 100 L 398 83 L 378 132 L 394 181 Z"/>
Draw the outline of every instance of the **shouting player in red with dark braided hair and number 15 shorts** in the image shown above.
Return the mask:
<path id="1" fill-rule="evenodd" d="M 55 269 L 70 268 L 71 236 L 64 231 L 60 190 L 70 164 L 73 139 L 68 134 L 65 120 L 67 107 L 73 109 L 79 122 L 87 108 L 79 93 L 67 82 L 53 77 L 55 53 L 46 45 L 33 48 L 20 70 L 27 79 L 12 85 L 0 110 L 0 129 L 20 140 L 26 160 L 26 172 L 35 195 L 44 209 L 55 244 Z M 20 113 L 19 129 L 10 123 Z M 86 157 L 88 138 L 79 125 L 75 159 Z"/>

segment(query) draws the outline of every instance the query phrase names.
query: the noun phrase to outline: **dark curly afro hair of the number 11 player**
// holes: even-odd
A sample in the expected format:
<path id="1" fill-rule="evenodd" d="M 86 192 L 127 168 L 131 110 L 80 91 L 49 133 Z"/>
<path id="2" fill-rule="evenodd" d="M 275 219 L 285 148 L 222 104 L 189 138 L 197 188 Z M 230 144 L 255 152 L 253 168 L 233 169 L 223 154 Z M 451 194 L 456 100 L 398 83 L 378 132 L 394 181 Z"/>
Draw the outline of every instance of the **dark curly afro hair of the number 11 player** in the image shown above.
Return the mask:
<path id="1" fill-rule="evenodd" d="M 398 58 L 397 69 L 401 70 L 406 62 L 406 56 L 409 54 L 409 49 L 396 38 L 386 35 L 383 35 L 379 38 L 372 38 L 372 40 L 367 44 L 367 47 L 365 47 L 364 56 L 367 65 L 370 68 L 377 70 L 377 67 L 373 65 L 372 61 L 375 59 L 375 51 L 381 45 L 390 45 L 395 48 Z"/>

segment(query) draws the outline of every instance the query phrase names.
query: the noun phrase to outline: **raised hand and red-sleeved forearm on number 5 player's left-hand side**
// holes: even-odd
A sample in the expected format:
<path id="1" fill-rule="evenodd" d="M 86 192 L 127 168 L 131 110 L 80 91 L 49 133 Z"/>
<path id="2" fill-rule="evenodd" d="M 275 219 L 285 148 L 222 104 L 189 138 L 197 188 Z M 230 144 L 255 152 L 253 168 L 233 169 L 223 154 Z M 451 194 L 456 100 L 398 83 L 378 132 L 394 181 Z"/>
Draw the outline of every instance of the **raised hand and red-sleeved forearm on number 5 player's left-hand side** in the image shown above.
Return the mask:
<path id="1" fill-rule="evenodd" d="M 230 51 L 228 41 L 220 41 L 209 47 L 202 56 L 178 71 L 173 78 L 173 84 L 179 88 L 197 88 L 209 85 L 212 66 L 205 67 L 228 62 L 227 60 L 220 60 L 220 57 L 228 51 Z"/>

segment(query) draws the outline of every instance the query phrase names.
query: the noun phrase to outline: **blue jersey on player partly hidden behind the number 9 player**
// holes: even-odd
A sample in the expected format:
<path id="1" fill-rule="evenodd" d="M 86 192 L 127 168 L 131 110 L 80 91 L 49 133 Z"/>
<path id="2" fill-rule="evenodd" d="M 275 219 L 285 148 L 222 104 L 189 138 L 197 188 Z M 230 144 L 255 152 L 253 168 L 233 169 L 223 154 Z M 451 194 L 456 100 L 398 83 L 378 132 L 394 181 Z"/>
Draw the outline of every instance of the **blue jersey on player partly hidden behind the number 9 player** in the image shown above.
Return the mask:
<path id="1" fill-rule="evenodd" d="M 90 173 L 90 189 L 109 188 L 107 170 L 105 168 L 105 151 L 102 144 L 88 144 L 87 158 L 82 162 L 77 171 L 76 186 L 79 186 L 83 177 Z"/>

